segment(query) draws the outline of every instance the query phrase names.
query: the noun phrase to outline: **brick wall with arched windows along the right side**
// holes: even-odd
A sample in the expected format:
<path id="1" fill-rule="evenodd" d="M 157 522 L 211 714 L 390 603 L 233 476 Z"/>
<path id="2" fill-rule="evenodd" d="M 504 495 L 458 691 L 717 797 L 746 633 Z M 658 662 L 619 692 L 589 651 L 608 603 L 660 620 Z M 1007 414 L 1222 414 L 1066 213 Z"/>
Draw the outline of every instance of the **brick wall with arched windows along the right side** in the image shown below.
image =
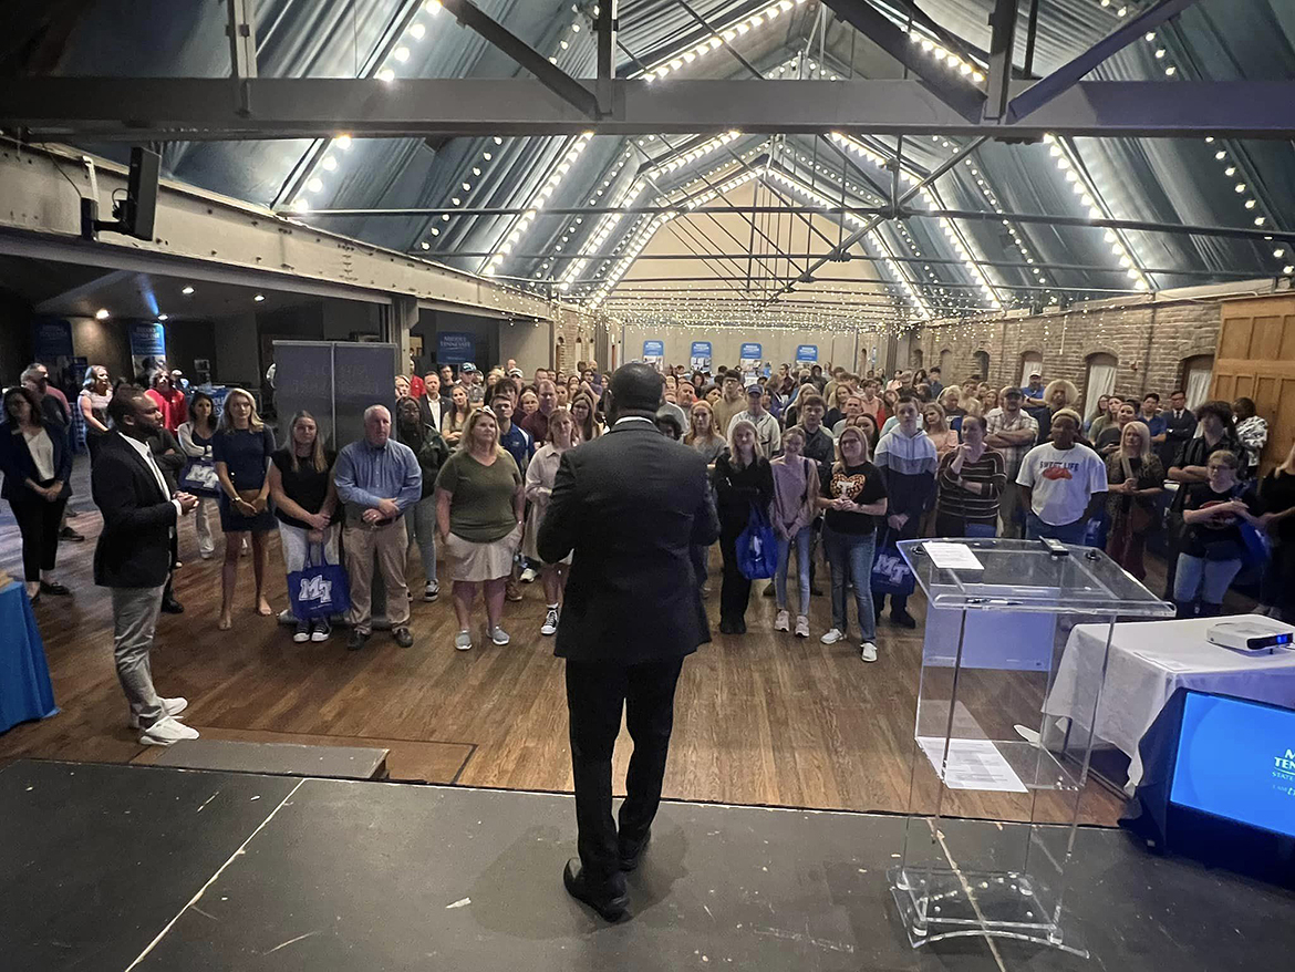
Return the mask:
<path id="1" fill-rule="evenodd" d="M 1182 363 L 1215 353 L 1219 341 L 1217 301 L 1178 301 L 1132 307 L 1090 306 L 1033 318 L 967 321 L 922 329 L 916 347 L 930 368 L 945 356 L 944 384 L 976 372 L 978 351 L 989 355 L 988 380 L 1002 388 L 1020 380 L 1026 354 L 1042 359 L 1044 381 L 1068 378 L 1084 393 L 1088 359 L 1115 356 L 1115 391 L 1168 395 L 1182 377 Z M 985 377 L 985 376 L 982 376 Z"/>

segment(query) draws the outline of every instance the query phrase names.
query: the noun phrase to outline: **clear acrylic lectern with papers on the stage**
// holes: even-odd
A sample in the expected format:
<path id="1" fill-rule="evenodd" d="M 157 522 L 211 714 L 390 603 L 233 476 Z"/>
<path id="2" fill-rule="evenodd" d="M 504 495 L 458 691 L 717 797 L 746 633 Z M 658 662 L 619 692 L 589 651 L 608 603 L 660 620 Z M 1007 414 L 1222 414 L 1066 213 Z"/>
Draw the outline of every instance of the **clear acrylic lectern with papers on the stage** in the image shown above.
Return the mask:
<path id="1" fill-rule="evenodd" d="M 1070 721 L 1045 718 L 1044 700 L 1076 623 L 1106 623 L 1109 653 L 1118 618 L 1173 608 L 1090 547 L 899 547 L 927 597 L 904 848 L 888 871 L 909 941 L 992 934 L 1087 955 L 1062 902 L 1101 686 Z"/>

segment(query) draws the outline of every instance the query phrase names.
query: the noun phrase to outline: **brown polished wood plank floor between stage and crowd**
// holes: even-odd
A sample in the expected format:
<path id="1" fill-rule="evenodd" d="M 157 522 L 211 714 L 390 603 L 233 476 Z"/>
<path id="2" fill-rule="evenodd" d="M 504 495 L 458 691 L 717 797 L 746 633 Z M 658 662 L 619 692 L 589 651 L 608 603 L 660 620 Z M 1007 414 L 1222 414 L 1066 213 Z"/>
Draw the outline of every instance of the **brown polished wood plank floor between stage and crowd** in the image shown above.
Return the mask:
<path id="1" fill-rule="evenodd" d="M 82 460 L 83 461 L 83 460 Z M 71 597 L 36 605 L 54 695 L 62 713 L 0 735 L 0 763 L 14 757 L 76 761 L 146 761 L 126 727 L 126 705 L 111 661 L 107 592 L 92 583 L 91 557 L 100 530 L 87 472 L 78 465 L 71 522 L 85 543 L 63 543 L 58 574 Z M 344 649 L 344 632 L 298 645 L 275 618 L 253 613 L 251 561 L 240 565 L 233 631 L 218 631 L 220 550 L 198 559 L 192 518 L 181 527 L 176 594 L 181 616 L 162 616 L 153 673 L 163 695 L 190 700 L 189 724 L 223 739 L 324 741 L 391 748 L 395 779 L 461 785 L 570 791 L 570 750 L 562 662 L 543 638 L 540 584 L 523 587 L 504 626 L 513 643 L 456 652 L 448 592 L 413 605 L 416 643 L 401 649 L 376 632 L 365 651 Z M 411 559 L 412 575 L 420 575 Z M 717 553 L 715 553 L 717 566 Z M 0 568 L 21 574 L 19 543 L 8 508 L 0 515 Z M 286 605 L 277 538 L 268 595 Z M 759 584 L 758 584 L 759 586 Z M 712 581 L 712 618 L 717 578 Z M 650 605 L 644 605 L 649 609 Z M 879 627 L 881 661 L 865 665 L 857 643 L 826 647 L 826 597 L 815 597 L 813 638 L 774 634 L 773 599 L 752 596 L 745 636 L 715 636 L 684 666 L 666 796 L 724 804 L 903 813 L 908 806 L 921 634 L 888 621 Z M 925 610 L 921 596 L 913 613 Z M 851 612 L 853 609 L 851 608 Z M 478 635 L 479 638 L 479 635 Z M 983 697 L 1005 710 L 1039 708 L 1035 687 Z M 970 700 L 970 696 L 969 696 Z M 623 779 L 628 735 L 616 750 Z M 923 780 L 919 774 L 918 784 Z M 1041 801 L 1048 804 L 1049 801 Z M 1057 804 L 1058 819 L 1064 801 Z M 953 794 L 945 813 L 1024 819 L 1026 798 Z M 1089 783 L 1081 818 L 1111 826 L 1120 801 Z"/>

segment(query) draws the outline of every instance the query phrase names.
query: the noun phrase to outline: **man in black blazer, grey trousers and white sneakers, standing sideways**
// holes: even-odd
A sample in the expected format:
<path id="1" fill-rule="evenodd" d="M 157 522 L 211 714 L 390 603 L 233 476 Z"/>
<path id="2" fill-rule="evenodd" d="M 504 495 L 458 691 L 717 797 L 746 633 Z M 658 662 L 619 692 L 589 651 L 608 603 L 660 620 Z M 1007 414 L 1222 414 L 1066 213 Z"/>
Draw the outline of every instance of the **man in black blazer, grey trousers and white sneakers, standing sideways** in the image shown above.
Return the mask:
<path id="1" fill-rule="evenodd" d="M 91 472 L 91 492 L 104 515 L 95 547 L 95 583 L 113 591 L 113 657 L 131 706 L 131 727 L 146 745 L 171 745 L 198 734 L 180 723 L 188 701 L 153 688 L 149 653 L 171 573 L 171 538 L 198 498 L 167 486 L 149 448 L 162 411 L 142 389 L 122 385 L 107 406 L 115 429 L 104 435 Z"/>

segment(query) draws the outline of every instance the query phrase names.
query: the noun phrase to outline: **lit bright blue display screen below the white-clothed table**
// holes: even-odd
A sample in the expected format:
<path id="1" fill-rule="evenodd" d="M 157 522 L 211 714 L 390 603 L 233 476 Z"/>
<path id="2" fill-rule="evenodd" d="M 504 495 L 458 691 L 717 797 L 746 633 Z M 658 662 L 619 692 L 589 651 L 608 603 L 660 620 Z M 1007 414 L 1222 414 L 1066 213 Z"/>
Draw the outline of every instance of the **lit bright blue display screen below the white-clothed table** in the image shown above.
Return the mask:
<path id="1" fill-rule="evenodd" d="M 1169 802 L 1295 837 L 1295 712 L 1189 692 Z"/>

